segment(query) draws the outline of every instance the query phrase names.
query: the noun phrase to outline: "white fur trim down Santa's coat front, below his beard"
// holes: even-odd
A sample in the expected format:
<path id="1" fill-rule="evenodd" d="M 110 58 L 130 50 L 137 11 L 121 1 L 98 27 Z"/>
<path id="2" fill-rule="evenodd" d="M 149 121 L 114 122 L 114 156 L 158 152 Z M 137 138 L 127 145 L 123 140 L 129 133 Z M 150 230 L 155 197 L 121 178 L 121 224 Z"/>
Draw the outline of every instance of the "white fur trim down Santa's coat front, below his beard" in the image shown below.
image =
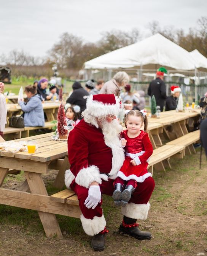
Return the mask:
<path id="1" fill-rule="evenodd" d="M 109 178 L 115 179 L 117 177 L 118 171 L 121 169 L 123 163 L 124 163 L 124 149 L 121 147 L 121 142 L 119 140 L 119 137 L 115 137 L 111 141 L 107 141 L 104 137 L 105 144 L 111 148 L 112 150 L 112 168 L 110 173 L 108 175 Z"/>

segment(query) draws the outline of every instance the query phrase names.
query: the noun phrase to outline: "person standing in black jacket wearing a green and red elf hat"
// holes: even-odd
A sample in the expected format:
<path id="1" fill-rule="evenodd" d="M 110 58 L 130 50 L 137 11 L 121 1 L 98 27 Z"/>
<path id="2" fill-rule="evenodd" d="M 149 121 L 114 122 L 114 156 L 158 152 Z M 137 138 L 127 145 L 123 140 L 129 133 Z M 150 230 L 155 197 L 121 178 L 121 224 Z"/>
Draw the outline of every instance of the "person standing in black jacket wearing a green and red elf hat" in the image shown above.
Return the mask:
<path id="1" fill-rule="evenodd" d="M 148 87 L 148 95 L 151 97 L 154 95 L 156 104 L 157 106 L 160 106 L 161 112 L 163 111 L 165 99 L 167 98 L 166 85 L 163 79 L 164 72 L 158 70 L 156 73 L 156 79 L 151 81 L 150 86 Z"/>

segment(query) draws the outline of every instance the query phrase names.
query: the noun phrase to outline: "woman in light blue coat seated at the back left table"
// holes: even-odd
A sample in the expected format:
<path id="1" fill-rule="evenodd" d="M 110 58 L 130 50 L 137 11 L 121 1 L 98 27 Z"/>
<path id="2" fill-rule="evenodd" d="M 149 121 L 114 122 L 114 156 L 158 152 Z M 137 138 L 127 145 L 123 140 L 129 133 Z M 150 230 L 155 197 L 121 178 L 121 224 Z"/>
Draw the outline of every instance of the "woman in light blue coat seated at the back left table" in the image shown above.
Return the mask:
<path id="1" fill-rule="evenodd" d="M 25 105 L 23 100 L 19 101 L 19 105 L 24 113 L 25 126 L 45 126 L 45 118 L 42 106 L 42 97 L 37 94 L 35 85 L 28 85 L 24 89 L 25 94 L 29 98 L 29 102 Z"/>

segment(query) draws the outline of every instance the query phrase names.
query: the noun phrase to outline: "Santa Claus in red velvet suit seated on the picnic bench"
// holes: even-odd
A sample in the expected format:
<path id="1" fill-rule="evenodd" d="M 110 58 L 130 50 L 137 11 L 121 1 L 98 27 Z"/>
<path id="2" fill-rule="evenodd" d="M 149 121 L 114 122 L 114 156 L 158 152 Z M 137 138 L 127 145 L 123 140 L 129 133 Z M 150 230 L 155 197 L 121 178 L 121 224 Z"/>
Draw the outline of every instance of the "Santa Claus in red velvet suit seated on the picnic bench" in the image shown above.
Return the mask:
<path id="1" fill-rule="evenodd" d="M 120 102 L 113 94 L 91 95 L 81 120 L 68 136 L 68 158 L 71 169 L 65 172 L 65 185 L 78 196 L 81 223 L 86 234 L 92 236 L 94 250 L 105 248 L 106 220 L 102 210 L 102 194 L 112 196 L 114 179 L 124 162 L 124 150 L 119 140 L 122 131 L 116 117 Z M 148 177 L 137 188 L 121 211 L 120 233 L 139 240 L 150 239 L 151 233 L 139 230 L 137 219 L 146 220 L 154 189 Z"/>

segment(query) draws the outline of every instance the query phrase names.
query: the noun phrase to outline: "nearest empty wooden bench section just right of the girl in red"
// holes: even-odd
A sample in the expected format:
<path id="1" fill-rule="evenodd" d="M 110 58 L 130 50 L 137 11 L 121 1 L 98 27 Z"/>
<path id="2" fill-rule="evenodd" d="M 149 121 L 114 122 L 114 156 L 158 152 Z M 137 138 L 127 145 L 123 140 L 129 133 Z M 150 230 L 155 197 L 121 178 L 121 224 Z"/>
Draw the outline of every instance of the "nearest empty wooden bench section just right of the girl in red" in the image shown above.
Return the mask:
<path id="1" fill-rule="evenodd" d="M 185 146 L 182 145 L 164 145 L 153 150 L 153 154 L 150 157 L 149 169 L 153 175 L 153 169 L 164 170 L 165 167 L 170 167 L 170 157 L 183 158 L 185 156 Z"/>

